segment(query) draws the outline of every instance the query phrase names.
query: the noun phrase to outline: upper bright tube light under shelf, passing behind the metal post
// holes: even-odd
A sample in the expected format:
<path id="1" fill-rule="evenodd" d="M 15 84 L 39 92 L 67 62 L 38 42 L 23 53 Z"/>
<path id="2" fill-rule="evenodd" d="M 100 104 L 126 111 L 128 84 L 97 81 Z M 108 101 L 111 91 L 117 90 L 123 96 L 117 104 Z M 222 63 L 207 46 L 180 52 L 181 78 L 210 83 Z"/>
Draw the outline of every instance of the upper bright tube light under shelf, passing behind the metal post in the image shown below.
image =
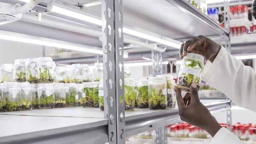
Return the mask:
<path id="1" fill-rule="evenodd" d="M 63 7 L 65 7 L 65 8 L 63 8 Z M 73 17 L 75 19 L 83 20 L 83 21 L 86 21 L 86 22 L 90 22 L 90 23 L 94 23 L 94 24 L 97 24 L 99 26 L 102 26 L 102 21 L 100 19 L 96 19 L 94 17 L 82 14 L 83 12 L 81 12 L 79 10 L 72 10 L 72 9 L 68 8 L 67 6 L 63 6 L 59 3 L 53 3 L 53 6 L 51 8 L 49 7 L 48 10 L 50 10 L 52 12 L 55 12 L 55 13 L 62 14 L 62 15 L 66 15 L 66 16 L 69 16 L 69 17 Z M 75 12 L 75 11 L 79 11 L 81 13 Z M 171 46 L 171 47 L 174 47 L 174 48 L 177 48 L 177 49 L 180 49 L 180 46 L 182 44 L 181 42 L 176 41 L 176 40 L 171 39 L 171 38 L 168 38 L 168 41 L 167 41 L 167 40 L 157 38 L 157 37 L 154 37 L 154 36 L 150 36 L 150 35 L 147 35 L 147 34 L 143 34 L 143 33 L 140 33 L 138 31 L 128 29 L 128 28 L 123 28 L 123 33 L 134 35 L 134 36 L 141 37 L 141 38 L 144 38 L 144 39 L 148 39 L 150 41 L 154 41 L 154 42 L 157 42 L 157 43 L 160 43 L 160 44 L 168 45 L 168 46 Z"/>

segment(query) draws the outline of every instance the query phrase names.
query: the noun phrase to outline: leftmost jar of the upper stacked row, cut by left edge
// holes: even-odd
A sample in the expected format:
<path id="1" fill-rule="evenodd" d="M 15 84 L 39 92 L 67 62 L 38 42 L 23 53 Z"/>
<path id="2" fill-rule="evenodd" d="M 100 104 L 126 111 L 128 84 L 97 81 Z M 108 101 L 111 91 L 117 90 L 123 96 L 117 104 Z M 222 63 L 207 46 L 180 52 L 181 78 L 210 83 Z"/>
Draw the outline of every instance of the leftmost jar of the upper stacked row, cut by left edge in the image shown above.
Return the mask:
<path id="1" fill-rule="evenodd" d="M 1 64 L 0 66 L 0 82 L 13 81 L 13 64 Z"/>

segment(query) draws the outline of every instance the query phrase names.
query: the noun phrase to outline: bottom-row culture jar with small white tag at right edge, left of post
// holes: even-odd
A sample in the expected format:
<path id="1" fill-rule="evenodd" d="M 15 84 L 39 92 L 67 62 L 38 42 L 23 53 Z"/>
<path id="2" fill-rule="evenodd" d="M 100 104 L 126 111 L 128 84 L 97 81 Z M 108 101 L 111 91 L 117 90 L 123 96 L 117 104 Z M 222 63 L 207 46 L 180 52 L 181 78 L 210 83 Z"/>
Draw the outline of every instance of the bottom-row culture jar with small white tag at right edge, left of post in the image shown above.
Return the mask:
<path id="1" fill-rule="evenodd" d="M 66 107 L 77 106 L 76 100 L 79 99 L 77 85 L 75 83 L 68 83 L 65 84 L 65 86 L 66 89 L 68 89 L 68 91 L 66 91 Z"/>

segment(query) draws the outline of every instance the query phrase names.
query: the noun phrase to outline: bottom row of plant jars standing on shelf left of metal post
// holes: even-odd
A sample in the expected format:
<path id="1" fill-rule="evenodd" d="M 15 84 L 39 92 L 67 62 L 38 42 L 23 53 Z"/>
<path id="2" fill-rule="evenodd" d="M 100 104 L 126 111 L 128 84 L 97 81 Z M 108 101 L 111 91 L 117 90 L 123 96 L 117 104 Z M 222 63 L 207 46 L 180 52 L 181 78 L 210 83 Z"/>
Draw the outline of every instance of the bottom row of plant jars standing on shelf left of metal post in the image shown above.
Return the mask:
<path id="1" fill-rule="evenodd" d="M 60 107 L 99 107 L 99 81 L 75 83 L 0 84 L 0 112 Z"/>

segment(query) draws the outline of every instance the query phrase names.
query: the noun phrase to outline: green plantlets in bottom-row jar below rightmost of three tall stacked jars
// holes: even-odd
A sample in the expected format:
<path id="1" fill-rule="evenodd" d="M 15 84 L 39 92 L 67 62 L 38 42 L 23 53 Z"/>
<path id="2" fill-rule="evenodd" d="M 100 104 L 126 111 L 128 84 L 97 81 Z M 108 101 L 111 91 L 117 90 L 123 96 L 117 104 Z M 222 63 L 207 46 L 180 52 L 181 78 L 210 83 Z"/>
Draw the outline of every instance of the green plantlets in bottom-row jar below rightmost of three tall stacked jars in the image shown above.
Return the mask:
<path id="1" fill-rule="evenodd" d="M 42 95 L 39 98 L 39 108 L 54 108 L 54 95 L 51 94 L 50 96 L 47 96 L 46 94 L 42 93 Z"/>

